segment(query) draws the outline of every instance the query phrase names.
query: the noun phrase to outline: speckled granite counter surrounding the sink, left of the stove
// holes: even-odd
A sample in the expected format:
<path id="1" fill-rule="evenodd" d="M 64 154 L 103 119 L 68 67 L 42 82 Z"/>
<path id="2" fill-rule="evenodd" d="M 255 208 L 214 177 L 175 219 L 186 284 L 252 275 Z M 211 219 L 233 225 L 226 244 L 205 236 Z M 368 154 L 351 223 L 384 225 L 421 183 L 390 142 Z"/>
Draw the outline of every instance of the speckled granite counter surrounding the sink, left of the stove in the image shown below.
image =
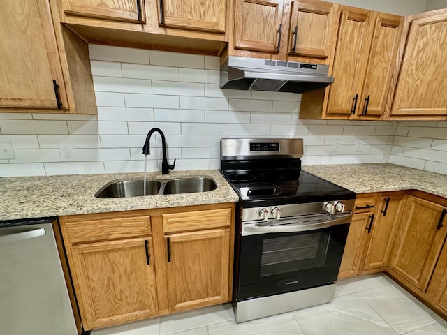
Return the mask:
<path id="1" fill-rule="evenodd" d="M 147 174 L 147 179 L 210 177 L 217 184 L 214 191 L 113 199 L 94 197 L 96 191 L 110 181 L 142 177 L 142 173 L 122 173 L 0 178 L 0 220 L 216 204 L 238 200 L 237 194 L 218 170 Z"/>

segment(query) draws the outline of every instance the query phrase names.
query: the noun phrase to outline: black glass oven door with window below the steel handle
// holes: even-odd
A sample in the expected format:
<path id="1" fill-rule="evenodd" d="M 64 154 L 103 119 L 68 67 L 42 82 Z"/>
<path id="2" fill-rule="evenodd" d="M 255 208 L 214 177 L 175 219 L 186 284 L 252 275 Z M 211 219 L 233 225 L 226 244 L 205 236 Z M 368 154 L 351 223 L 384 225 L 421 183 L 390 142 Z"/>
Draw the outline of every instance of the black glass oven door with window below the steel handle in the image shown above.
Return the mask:
<path id="1" fill-rule="evenodd" d="M 280 226 L 278 230 L 286 232 L 270 232 L 274 231 L 271 227 L 265 234 L 240 237 L 237 301 L 335 281 L 349 222 L 298 232 Z"/>

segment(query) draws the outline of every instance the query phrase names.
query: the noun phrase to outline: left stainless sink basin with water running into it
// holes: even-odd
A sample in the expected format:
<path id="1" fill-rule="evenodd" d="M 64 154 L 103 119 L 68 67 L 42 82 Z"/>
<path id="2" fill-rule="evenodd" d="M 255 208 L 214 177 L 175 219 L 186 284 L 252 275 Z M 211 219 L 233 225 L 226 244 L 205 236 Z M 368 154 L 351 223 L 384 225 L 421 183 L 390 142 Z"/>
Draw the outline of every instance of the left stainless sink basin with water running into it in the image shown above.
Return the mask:
<path id="1" fill-rule="evenodd" d="M 117 181 L 106 186 L 95 194 L 96 198 L 128 198 L 138 197 L 143 194 L 144 182 L 142 180 Z M 155 180 L 146 181 L 146 195 L 156 195 L 161 188 L 161 182 Z"/>

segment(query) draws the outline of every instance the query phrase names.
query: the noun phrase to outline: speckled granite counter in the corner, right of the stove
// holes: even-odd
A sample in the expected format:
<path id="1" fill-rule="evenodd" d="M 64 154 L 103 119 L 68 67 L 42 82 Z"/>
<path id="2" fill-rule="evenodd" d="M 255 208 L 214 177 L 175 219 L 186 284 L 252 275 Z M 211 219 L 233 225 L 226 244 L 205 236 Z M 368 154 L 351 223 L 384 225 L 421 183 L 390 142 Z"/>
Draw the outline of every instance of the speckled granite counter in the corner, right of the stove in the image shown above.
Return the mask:
<path id="1" fill-rule="evenodd" d="M 447 175 L 393 164 L 309 165 L 302 170 L 356 193 L 419 190 L 447 198 Z"/>

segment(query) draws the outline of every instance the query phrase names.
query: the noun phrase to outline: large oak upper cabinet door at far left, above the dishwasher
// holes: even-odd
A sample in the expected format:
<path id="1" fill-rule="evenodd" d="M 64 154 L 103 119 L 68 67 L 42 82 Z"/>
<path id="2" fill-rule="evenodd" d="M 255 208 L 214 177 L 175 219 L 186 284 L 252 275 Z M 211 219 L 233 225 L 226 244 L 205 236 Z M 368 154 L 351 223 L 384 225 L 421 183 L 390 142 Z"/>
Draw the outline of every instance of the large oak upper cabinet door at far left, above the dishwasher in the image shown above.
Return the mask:
<path id="1" fill-rule="evenodd" d="M 2 1 L 0 40 L 0 107 L 68 108 L 47 1 Z"/>

